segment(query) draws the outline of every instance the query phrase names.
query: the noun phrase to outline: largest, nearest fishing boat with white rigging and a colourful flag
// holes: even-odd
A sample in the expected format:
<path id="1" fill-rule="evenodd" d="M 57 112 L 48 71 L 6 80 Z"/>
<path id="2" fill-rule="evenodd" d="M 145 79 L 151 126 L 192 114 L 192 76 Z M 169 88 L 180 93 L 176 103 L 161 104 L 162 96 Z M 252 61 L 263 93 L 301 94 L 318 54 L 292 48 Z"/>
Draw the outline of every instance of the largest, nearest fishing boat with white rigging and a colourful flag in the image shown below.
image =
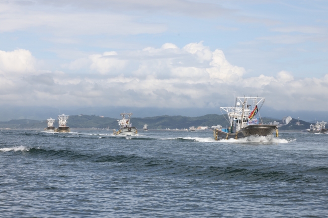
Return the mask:
<path id="1" fill-rule="evenodd" d="M 259 110 L 264 104 L 265 98 L 259 97 L 237 97 L 235 107 L 220 107 L 222 114 L 229 123 L 227 128 L 215 128 L 214 138 L 238 139 L 247 136 L 268 136 L 276 132 L 277 125 L 263 125 Z M 260 107 L 258 107 L 260 105 Z M 225 113 L 224 113 L 225 111 Z M 255 118 L 255 115 L 259 117 Z"/>

